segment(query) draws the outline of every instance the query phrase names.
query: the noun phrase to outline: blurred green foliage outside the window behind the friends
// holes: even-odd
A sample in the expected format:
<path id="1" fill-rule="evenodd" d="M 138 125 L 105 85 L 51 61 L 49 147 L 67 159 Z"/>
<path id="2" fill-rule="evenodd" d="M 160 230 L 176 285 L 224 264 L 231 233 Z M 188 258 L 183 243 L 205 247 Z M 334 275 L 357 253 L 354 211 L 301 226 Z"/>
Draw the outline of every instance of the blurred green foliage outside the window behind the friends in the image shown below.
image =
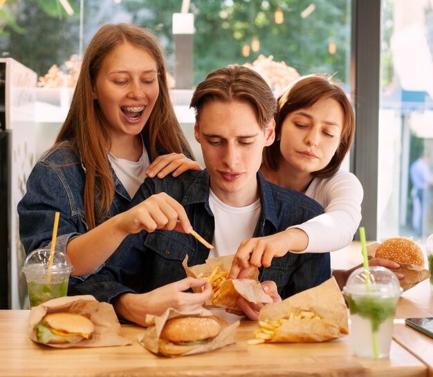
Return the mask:
<path id="1" fill-rule="evenodd" d="M 59 0 L 8 0 L 0 10 L 0 52 L 44 75 L 51 65 L 79 53 L 80 0 L 68 0 L 75 14 L 68 16 Z M 181 0 L 84 0 L 84 48 L 104 23 L 127 21 L 158 35 L 173 66 L 172 14 Z M 308 5 L 314 9 L 305 15 Z M 226 64 L 244 64 L 259 55 L 273 55 L 301 74 L 324 72 L 349 81 L 349 0 L 191 0 L 194 14 L 194 83 Z M 310 8 L 311 10 L 311 8 Z M 275 23 L 275 12 L 283 23 Z M 243 46 L 259 41 L 246 57 Z M 332 48 L 335 49 L 333 53 Z"/>

